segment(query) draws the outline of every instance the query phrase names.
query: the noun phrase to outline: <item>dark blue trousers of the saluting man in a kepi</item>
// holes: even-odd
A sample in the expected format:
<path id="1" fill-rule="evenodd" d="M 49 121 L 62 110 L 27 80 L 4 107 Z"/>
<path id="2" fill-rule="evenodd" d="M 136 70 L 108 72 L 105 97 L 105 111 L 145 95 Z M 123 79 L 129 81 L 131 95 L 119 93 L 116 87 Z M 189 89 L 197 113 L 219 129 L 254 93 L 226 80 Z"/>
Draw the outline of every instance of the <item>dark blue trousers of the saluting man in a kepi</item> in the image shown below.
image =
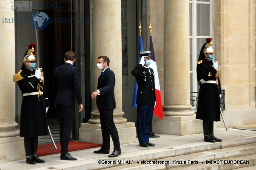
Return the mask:
<path id="1" fill-rule="evenodd" d="M 140 143 L 149 142 L 154 105 L 137 104 L 137 135 Z"/>

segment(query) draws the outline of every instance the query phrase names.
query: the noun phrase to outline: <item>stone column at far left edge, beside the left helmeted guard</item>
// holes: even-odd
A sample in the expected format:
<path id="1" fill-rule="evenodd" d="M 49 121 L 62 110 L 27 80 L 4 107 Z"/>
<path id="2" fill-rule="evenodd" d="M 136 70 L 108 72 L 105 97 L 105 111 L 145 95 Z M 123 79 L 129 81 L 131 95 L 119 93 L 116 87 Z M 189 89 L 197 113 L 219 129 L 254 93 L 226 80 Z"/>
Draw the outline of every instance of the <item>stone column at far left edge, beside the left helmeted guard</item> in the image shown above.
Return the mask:
<path id="1" fill-rule="evenodd" d="M 14 11 L 0 10 L 0 16 L 14 18 Z M 25 158 L 23 138 L 20 131 L 15 129 L 15 83 L 12 82 L 15 74 L 15 32 L 14 22 L 0 22 L 0 46 L 2 61 L 12 64 L 2 64 L 0 74 L 0 163 Z"/>

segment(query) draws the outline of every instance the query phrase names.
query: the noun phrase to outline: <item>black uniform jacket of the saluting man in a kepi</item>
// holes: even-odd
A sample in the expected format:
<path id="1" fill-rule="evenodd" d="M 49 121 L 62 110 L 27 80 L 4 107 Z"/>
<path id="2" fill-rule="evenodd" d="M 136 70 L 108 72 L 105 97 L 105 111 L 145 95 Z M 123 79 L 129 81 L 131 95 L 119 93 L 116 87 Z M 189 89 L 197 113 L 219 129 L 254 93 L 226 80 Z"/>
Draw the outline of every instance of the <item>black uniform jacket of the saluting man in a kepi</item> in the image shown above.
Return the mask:
<path id="1" fill-rule="evenodd" d="M 135 76 L 138 83 L 137 91 L 137 104 L 147 104 L 154 105 L 156 101 L 156 92 L 155 92 L 155 74 L 152 68 L 148 69 L 141 64 L 137 65 L 132 70 L 132 75 Z"/>

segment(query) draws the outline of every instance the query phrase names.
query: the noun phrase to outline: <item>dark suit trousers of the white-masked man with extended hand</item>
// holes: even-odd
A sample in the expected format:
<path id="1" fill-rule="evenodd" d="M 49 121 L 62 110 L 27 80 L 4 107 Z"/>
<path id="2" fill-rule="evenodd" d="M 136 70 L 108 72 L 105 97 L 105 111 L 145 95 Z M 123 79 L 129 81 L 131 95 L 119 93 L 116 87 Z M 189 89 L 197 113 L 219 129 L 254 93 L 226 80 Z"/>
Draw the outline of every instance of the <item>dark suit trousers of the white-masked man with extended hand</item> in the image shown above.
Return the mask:
<path id="1" fill-rule="evenodd" d="M 109 150 L 110 147 L 110 136 L 114 143 L 114 151 L 121 150 L 120 142 L 118 137 L 118 131 L 114 123 L 113 111 L 114 109 L 99 109 L 100 111 L 100 125 L 102 133 L 102 143 L 101 146 L 104 150 Z"/>

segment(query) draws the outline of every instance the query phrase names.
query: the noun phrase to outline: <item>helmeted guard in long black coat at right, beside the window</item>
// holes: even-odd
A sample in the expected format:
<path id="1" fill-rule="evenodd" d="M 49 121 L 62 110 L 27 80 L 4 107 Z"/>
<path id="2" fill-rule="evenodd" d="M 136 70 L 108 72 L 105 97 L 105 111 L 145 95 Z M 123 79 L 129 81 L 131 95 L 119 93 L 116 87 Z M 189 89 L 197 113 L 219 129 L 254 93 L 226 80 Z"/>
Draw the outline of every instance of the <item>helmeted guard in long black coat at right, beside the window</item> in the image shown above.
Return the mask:
<path id="1" fill-rule="evenodd" d="M 207 38 L 197 62 L 197 80 L 200 85 L 196 119 L 203 120 L 204 141 L 220 142 L 213 135 L 213 122 L 220 121 L 220 79 L 218 61 L 213 60 L 212 39 Z"/>

